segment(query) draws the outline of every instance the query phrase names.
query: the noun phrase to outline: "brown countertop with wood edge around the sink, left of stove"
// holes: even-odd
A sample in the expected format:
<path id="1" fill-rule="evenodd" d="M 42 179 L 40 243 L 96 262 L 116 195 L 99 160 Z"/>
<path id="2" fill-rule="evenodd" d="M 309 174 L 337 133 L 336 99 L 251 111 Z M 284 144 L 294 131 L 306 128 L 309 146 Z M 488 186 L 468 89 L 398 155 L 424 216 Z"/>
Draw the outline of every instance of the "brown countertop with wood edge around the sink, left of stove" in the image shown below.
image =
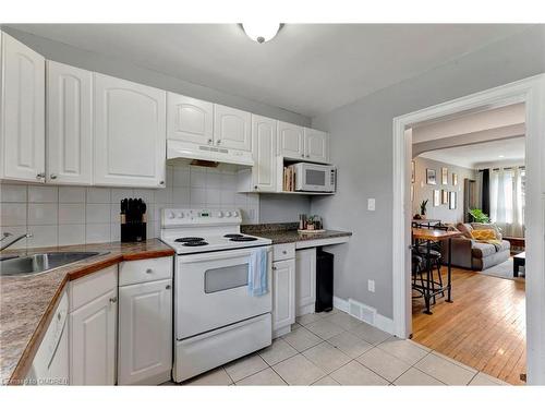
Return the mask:
<path id="1" fill-rule="evenodd" d="M 26 376 L 68 281 L 123 261 L 171 256 L 174 251 L 157 239 L 141 243 L 65 245 L 8 254 L 94 251 L 99 254 L 49 273 L 27 277 L 0 276 L 0 384 L 16 384 Z"/>

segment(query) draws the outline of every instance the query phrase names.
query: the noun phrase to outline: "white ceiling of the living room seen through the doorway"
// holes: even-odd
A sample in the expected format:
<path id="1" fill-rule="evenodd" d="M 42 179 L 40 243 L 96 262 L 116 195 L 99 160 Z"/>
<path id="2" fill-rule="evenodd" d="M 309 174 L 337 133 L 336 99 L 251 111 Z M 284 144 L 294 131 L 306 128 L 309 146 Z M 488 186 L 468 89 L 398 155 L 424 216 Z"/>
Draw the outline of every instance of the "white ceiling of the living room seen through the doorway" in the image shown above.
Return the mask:
<path id="1" fill-rule="evenodd" d="M 524 136 L 426 152 L 421 157 L 464 168 L 524 161 Z"/>

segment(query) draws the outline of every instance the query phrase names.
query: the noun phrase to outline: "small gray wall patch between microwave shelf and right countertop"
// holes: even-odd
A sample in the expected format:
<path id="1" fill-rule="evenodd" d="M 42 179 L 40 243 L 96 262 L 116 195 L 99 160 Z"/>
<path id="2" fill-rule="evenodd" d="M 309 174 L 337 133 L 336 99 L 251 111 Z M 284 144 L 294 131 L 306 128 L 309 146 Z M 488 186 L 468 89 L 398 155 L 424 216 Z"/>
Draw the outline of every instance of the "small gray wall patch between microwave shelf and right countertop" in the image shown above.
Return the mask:
<path id="1" fill-rule="evenodd" d="M 259 194 L 259 222 L 298 221 L 302 213 L 311 213 L 308 196 Z"/>

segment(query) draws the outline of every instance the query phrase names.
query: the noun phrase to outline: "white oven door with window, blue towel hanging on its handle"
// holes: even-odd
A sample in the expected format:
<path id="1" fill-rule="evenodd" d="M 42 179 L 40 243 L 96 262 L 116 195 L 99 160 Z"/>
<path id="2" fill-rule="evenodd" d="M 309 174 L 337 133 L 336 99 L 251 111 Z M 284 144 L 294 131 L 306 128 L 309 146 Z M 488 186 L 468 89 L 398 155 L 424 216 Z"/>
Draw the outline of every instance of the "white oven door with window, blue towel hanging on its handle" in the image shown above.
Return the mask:
<path id="1" fill-rule="evenodd" d="M 271 246 L 267 250 L 269 291 L 247 292 L 250 255 L 255 248 L 182 255 L 175 268 L 175 334 L 181 340 L 271 311 Z"/>

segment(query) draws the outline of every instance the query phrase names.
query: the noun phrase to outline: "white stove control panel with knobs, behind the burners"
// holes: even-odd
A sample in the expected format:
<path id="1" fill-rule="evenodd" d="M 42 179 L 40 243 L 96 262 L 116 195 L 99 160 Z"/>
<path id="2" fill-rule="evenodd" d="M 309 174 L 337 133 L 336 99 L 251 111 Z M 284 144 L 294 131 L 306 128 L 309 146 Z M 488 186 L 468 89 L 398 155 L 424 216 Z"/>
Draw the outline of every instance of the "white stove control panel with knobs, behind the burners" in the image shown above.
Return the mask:
<path id="1" fill-rule="evenodd" d="M 161 210 L 162 227 L 194 225 L 240 225 L 240 209 L 203 209 L 203 208 L 164 208 Z"/>

